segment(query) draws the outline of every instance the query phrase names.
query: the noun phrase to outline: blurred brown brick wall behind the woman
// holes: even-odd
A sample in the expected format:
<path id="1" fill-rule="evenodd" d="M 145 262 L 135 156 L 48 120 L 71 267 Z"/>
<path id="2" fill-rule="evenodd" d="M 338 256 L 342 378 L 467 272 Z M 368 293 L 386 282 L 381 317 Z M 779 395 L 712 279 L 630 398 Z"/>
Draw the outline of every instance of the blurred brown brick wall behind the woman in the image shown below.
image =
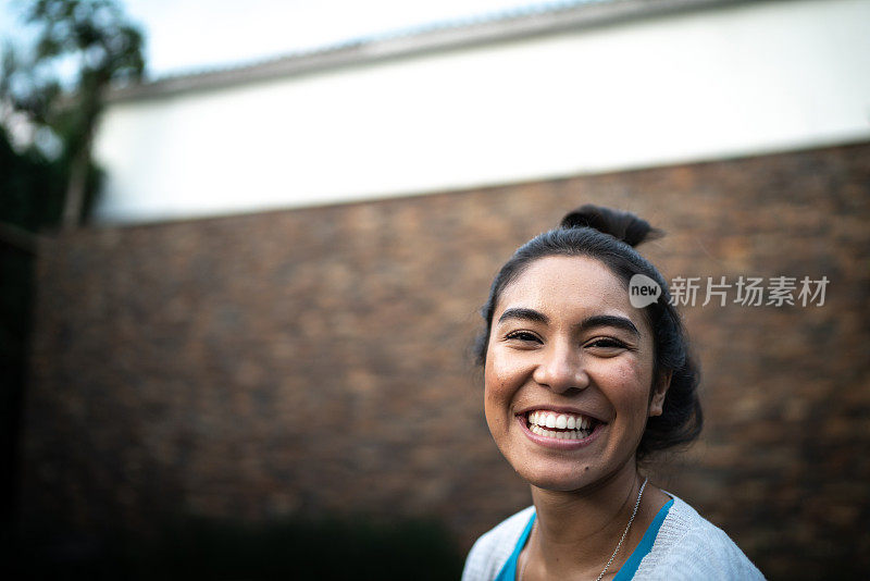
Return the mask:
<path id="1" fill-rule="evenodd" d="M 669 232 L 666 275 L 826 275 L 823 307 L 684 308 L 699 444 L 658 483 L 773 579 L 868 569 L 870 145 L 85 230 L 42 248 L 22 514 L 436 516 L 529 503 L 468 349 L 510 252 L 569 209 Z"/>

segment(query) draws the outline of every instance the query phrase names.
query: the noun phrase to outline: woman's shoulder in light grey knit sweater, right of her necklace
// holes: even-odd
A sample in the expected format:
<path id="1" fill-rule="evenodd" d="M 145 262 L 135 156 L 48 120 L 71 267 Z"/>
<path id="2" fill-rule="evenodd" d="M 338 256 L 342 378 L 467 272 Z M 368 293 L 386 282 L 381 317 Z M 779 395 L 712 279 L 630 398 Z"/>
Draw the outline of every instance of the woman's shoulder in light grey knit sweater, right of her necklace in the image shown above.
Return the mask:
<path id="1" fill-rule="evenodd" d="M 725 581 L 765 576 L 722 529 L 673 496 L 673 505 L 635 579 Z"/>

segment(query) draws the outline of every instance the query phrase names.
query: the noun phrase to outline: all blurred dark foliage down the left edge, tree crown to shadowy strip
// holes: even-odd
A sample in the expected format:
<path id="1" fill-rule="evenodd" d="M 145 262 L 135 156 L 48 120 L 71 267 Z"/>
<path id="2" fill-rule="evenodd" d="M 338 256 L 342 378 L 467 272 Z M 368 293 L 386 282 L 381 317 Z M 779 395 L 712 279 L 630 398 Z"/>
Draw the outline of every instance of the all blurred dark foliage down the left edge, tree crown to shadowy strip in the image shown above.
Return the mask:
<path id="1" fill-rule="evenodd" d="M 92 133 L 111 84 L 138 79 L 142 35 L 111 0 L 23 1 L 33 46 L 0 59 L 0 471 L 2 533 L 17 499 L 17 449 L 38 232 L 77 224 L 96 199 Z M 11 136 L 17 138 L 13 139 Z M 5 541 L 5 539 L 3 539 Z"/>

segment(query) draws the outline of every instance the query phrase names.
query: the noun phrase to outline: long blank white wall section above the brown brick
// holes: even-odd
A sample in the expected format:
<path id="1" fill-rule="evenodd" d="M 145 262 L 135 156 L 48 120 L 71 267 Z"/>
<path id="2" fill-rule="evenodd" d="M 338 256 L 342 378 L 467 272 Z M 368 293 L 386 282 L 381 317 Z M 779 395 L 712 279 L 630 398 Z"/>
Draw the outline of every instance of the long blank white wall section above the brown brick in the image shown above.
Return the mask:
<path id="1" fill-rule="evenodd" d="M 104 222 L 870 138 L 870 1 L 759 2 L 114 104 Z"/>

